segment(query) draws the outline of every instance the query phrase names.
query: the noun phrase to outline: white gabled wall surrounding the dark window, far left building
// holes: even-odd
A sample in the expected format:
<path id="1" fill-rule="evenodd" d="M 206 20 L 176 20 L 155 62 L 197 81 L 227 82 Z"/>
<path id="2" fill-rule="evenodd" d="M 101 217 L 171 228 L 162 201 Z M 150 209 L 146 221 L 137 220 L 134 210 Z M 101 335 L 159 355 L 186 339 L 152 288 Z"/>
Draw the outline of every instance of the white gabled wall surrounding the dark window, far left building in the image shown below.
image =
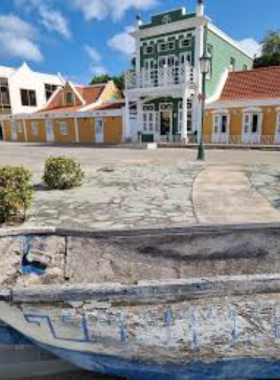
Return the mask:
<path id="1" fill-rule="evenodd" d="M 13 114 L 32 113 L 42 109 L 46 104 L 45 84 L 63 84 L 58 75 L 36 73 L 26 64 L 17 70 L 0 67 L 0 77 L 8 77 Z M 36 91 L 37 107 L 22 106 L 21 89 Z"/>

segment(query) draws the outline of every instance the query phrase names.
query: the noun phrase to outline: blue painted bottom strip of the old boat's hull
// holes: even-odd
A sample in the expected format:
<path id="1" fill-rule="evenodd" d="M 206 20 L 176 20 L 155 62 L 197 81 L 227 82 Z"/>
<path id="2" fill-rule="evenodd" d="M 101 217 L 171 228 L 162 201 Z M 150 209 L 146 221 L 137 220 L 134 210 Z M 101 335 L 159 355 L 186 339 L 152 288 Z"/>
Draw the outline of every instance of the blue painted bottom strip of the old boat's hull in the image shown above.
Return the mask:
<path id="1" fill-rule="evenodd" d="M 280 360 L 238 358 L 215 363 L 191 362 L 184 366 L 140 363 L 121 358 L 77 352 L 37 343 L 64 360 L 94 373 L 134 380 L 279 379 Z"/>

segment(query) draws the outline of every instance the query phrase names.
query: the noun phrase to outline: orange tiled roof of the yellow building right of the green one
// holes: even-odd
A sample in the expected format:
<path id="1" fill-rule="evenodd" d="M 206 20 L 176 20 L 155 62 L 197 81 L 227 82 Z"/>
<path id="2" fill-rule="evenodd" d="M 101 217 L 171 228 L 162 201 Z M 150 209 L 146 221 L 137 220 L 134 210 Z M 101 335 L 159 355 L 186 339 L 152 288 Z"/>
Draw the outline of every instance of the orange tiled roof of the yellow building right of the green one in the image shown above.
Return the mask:
<path id="1" fill-rule="evenodd" d="M 280 66 L 229 73 L 220 101 L 280 98 Z"/>

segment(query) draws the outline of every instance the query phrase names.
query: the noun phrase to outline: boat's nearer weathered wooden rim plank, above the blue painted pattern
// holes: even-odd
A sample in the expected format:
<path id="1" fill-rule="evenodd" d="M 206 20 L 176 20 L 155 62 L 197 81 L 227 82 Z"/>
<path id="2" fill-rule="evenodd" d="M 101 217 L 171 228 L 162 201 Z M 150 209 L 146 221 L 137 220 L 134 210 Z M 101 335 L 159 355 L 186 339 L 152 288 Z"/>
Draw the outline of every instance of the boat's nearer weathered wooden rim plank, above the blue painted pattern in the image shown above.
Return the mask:
<path id="1" fill-rule="evenodd" d="M 166 282 L 145 282 L 139 285 L 45 285 L 15 287 L 14 303 L 54 303 L 96 300 L 119 303 L 168 303 L 215 297 L 251 294 L 279 294 L 280 275 L 231 276 Z"/>

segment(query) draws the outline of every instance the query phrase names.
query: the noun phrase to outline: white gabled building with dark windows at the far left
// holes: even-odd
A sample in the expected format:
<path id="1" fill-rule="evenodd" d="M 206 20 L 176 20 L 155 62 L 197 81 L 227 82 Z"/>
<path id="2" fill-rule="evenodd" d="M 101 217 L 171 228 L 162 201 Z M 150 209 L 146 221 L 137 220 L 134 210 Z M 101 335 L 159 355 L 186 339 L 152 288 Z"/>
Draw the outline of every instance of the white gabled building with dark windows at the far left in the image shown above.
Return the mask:
<path id="1" fill-rule="evenodd" d="M 33 113 L 42 109 L 64 80 L 60 74 L 32 71 L 26 63 L 19 68 L 0 66 L 0 122 L 3 115 Z M 2 128 L 0 126 L 0 138 Z"/>

